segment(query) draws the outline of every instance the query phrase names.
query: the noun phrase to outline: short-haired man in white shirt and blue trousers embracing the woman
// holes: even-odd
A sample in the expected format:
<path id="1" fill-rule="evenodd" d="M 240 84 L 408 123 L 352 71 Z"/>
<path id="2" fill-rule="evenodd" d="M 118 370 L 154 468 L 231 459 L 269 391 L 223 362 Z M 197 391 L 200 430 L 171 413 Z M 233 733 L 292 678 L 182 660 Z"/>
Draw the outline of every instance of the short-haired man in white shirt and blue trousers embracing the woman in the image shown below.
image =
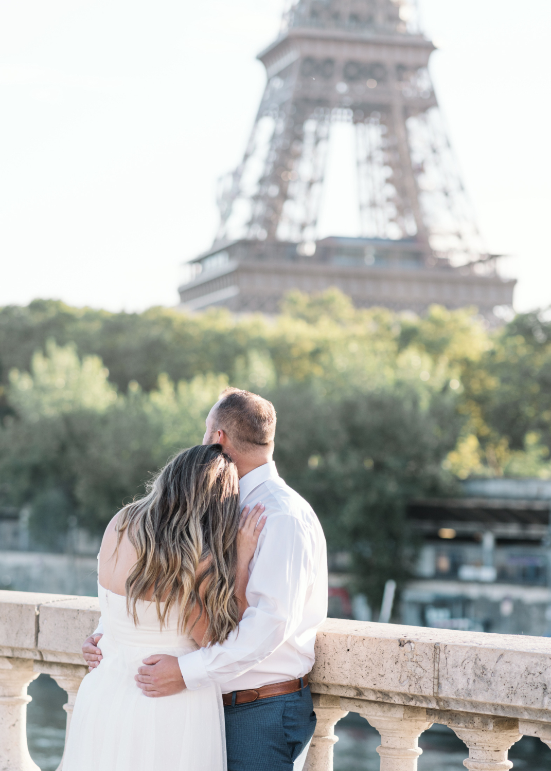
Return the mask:
<path id="1" fill-rule="evenodd" d="M 136 676 L 151 698 L 221 685 L 228 771 L 302 769 L 316 726 L 306 675 L 326 618 L 326 544 L 316 514 L 275 470 L 274 436 L 272 403 L 248 391 L 226 389 L 208 413 L 203 443 L 221 444 L 234 461 L 242 507 L 265 505 L 249 607 L 223 644 L 150 656 Z M 101 660 L 101 631 L 83 645 L 90 667 Z"/>

